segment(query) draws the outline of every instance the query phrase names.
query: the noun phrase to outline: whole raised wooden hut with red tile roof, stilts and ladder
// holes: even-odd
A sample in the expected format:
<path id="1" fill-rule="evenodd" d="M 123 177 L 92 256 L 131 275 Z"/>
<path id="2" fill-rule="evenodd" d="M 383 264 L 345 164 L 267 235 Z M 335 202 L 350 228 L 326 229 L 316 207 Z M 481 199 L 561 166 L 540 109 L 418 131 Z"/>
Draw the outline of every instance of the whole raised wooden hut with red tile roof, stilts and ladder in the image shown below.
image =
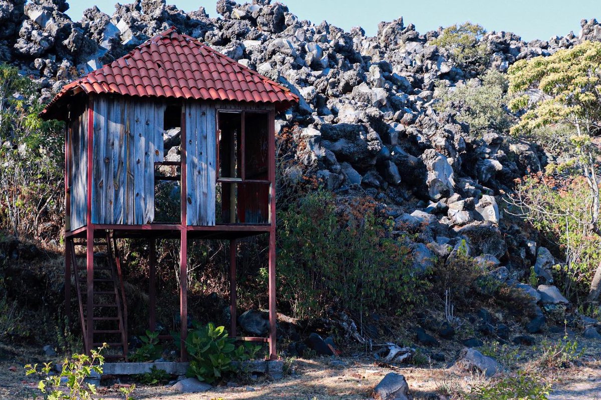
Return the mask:
<path id="1" fill-rule="evenodd" d="M 288 89 L 188 35 L 168 29 L 69 83 L 44 109 L 66 122 L 65 306 L 79 299 L 85 351 L 108 342 L 127 359 L 127 299 L 117 239 L 148 240 L 150 321 L 156 328 L 156 240 L 180 240 L 180 330 L 188 329 L 188 243 L 230 243 L 231 327 L 236 332 L 237 240 L 269 235 L 269 336 L 276 357 L 275 113 Z M 179 154 L 164 132 L 180 128 Z M 172 144 L 172 143 L 171 143 Z M 171 182 L 173 221 L 156 189 Z M 79 261 L 78 261 L 79 260 Z M 72 278 L 75 288 L 72 287 Z M 112 312 L 112 314 L 111 314 Z"/>

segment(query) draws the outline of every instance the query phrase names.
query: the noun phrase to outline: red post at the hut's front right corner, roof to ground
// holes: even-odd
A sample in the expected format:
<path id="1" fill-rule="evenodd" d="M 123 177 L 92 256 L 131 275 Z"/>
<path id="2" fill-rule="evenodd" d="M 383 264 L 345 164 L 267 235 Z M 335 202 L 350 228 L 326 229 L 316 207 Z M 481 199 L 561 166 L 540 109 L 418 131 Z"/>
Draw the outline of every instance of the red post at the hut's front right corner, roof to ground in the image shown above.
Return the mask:
<path id="1" fill-rule="evenodd" d="M 275 298 L 275 112 L 269 113 L 269 359 L 278 358 L 276 347 L 276 322 L 277 314 Z"/>

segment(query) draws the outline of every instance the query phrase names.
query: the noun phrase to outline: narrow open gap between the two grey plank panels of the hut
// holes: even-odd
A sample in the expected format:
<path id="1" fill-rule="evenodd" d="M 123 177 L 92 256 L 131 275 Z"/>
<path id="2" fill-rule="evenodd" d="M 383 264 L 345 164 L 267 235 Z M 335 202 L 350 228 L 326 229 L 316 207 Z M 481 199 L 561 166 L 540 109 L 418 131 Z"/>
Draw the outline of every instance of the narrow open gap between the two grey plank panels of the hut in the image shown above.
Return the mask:
<path id="1" fill-rule="evenodd" d="M 163 115 L 164 161 L 154 163 L 154 222 L 182 221 L 182 106 L 167 104 Z"/>

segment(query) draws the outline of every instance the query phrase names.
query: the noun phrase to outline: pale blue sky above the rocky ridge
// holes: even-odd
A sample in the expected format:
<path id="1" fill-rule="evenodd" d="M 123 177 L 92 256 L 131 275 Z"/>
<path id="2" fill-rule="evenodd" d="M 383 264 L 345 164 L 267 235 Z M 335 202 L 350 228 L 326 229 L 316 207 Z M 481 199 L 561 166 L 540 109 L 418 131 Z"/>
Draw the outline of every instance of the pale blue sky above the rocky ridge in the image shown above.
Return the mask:
<path id="1" fill-rule="evenodd" d="M 115 0 L 70 0 L 67 11 L 72 19 L 81 19 L 85 8 L 96 4 L 111 15 Z M 121 0 L 121 4 L 127 3 Z M 198 10 L 204 6 L 216 17 L 216 0 L 168 0 L 180 10 Z M 244 1 L 238 1 L 243 3 Z M 599 0 L 284 0 L 290 11 L 300 19 L 314 23 L 327 20 L 349 31 L 362 26 L 368 35 L 377 32 L 380 21 L 402 16 L 405 25 L 415 24 L 421 33 L 469 20 L 480 23 L 487 31 L 511 31 L 525 40 L 547 40 L 554 35 L 566 35 L 580 30 L 580 20 L 601 19 Z"/>

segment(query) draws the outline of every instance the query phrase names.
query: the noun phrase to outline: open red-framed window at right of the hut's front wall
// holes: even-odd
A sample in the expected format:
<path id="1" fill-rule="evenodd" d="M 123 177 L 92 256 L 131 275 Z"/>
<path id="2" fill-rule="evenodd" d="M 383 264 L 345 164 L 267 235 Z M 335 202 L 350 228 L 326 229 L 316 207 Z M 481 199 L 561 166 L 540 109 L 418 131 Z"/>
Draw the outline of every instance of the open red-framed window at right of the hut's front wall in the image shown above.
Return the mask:
<path id="1" fill-rule="evenodd" d="M 269 113 L 218 112 L 216 221 L 268 224 Z"/>

